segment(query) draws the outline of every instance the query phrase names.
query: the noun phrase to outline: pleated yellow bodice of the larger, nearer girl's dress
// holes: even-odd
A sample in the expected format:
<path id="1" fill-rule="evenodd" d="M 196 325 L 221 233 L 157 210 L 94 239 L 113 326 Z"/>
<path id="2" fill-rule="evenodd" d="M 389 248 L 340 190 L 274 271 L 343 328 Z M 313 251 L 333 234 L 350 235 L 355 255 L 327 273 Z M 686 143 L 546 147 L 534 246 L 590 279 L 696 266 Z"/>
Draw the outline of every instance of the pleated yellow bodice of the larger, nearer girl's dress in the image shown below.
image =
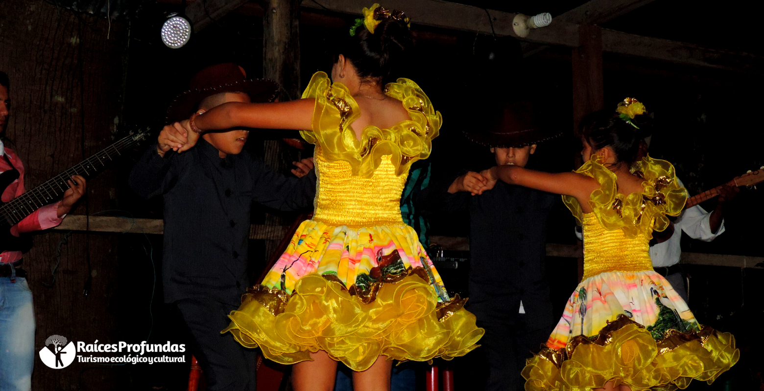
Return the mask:
<path id="1" fill-rule="evenodd" d="M 313 220 L 350 228 L 403 225 L 400 194 L 408 173 L 395 175 L 390 155 L 382 157 L 370 178 L 353 175 L 344 160 L 329 162 L 320 148 L 315 155 L 318 181 Z"/>

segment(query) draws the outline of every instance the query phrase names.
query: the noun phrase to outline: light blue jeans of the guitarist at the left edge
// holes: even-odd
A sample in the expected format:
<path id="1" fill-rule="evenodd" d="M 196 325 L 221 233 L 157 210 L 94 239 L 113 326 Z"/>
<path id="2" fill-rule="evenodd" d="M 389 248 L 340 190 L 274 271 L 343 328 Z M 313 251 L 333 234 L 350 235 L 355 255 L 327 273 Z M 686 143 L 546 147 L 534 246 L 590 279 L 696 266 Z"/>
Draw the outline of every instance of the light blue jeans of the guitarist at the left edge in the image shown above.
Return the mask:
<path id="1" fill-rule="evenodd" d="M 34 307 L 27 279 L 0 277 L 0 391 L 29 391 L 34 367 Z"/>

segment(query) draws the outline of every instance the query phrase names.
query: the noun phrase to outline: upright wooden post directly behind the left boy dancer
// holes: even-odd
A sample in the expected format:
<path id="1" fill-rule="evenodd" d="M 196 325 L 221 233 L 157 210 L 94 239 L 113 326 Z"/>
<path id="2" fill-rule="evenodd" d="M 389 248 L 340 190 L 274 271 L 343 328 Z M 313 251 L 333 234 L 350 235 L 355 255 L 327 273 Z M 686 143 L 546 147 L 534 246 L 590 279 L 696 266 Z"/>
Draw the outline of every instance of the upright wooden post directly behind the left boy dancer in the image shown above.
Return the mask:
<path id="1" fill-rule="evenodd" d="M 279 101 L 299 99 L 299 0 L 265 0 L 263 14 L 263 77 L 279 83 Z M 264 142 L 267 165 L 288 174 L 295 160 L 280 140 Z M 269 213 L 265 225 L 280 229 L 283 219 Z M 267 240 L 265 258 L 278 247 L 279 240 Z"/>

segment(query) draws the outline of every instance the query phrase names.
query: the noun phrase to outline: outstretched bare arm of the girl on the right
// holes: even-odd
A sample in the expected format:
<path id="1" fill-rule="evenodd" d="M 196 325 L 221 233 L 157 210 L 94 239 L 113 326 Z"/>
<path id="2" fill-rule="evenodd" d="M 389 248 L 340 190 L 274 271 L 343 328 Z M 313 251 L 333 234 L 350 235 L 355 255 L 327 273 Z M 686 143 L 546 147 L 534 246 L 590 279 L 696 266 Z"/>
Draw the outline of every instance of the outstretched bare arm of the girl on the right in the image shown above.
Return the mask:
<path id="1" fill-rule="evenodd" d="M 481 172 L 488 181 L 505 181 L 540 191 L 575 197 L 581 207 L 588 207 L 591 192 L 600 188 L 594 178 L 576 172 L 549 172 L 529 170 L 516 165 L 497 165 Z M 584 207 L 586 205 L 586 207 Z"/>

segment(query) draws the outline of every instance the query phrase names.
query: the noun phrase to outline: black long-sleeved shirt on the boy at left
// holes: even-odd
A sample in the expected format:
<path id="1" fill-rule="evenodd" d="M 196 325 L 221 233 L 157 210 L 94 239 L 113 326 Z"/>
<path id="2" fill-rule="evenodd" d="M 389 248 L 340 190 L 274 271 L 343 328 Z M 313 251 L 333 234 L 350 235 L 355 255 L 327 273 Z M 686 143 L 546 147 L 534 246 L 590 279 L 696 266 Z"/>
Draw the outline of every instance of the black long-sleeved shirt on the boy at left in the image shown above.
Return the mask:
<path id="1" fill-rule="evenodd" d="M 312 207 L 316 174 L 286 178 L 248 152 L 219 157 L 199 139 L 165 157 L 152 146 L 135 165 L 130 185 L 144 198 L 164 199 L 162 280 L 165 303 L 206 297 L 238 305 L 249 286 L 250 207 Z"/>

